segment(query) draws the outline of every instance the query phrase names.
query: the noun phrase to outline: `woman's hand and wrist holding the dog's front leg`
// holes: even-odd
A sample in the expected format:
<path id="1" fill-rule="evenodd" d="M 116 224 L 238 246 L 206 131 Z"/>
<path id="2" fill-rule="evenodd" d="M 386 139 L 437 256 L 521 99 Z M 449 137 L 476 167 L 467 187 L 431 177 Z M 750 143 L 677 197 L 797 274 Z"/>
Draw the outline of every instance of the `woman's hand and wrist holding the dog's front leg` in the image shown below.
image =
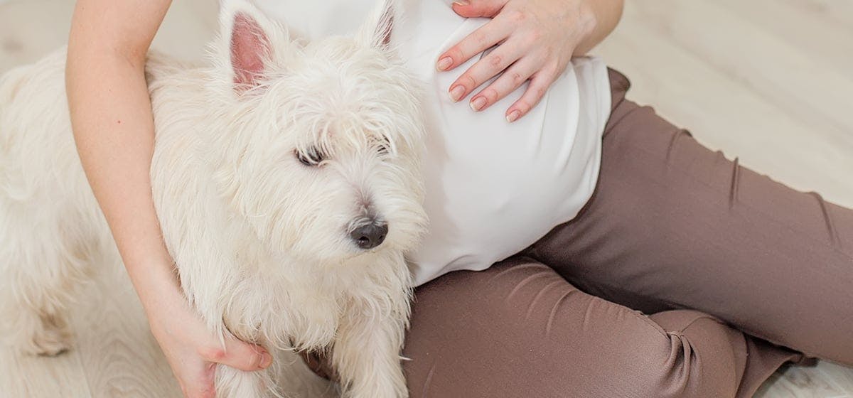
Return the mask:
<path id="1" fill-rule="evenodd" d="M 217 364 L 252 372 L 272 363 L 272 356 L 263 347 L 232 336 L 226 338 L 223 347 L 177 289 L 167 288 L 152 299 L 156 303 L 146 305 L 151 332 L 185 397 L 216 396 L 213 382 Z"/>

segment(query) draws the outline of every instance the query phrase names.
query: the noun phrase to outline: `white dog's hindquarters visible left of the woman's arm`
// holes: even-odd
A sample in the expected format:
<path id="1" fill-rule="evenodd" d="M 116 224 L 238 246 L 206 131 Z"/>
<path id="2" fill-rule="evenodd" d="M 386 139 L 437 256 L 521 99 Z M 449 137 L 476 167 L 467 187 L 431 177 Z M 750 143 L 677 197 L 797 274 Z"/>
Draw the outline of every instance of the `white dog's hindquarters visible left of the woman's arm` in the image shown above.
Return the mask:
<path id="1" fill-rule="evenodd" d="M 69 347 L 73 292 L 109 236 L 74 149 L 65 58 L 0 76 L 0 343 L 39 355 Z"/>

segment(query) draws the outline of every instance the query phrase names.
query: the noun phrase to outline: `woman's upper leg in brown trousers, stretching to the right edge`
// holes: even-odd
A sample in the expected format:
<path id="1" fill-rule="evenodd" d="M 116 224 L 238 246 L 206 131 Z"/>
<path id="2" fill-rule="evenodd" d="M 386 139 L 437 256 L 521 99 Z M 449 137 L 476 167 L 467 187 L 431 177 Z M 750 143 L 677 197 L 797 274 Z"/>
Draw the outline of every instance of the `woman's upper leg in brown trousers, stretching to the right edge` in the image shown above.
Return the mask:
<path id="1" fill-rule="evenodd" d="M 634 309 L 698 309 L 853 363 L 853 211 L 712 152 L 612 83 L 593 199 L 525 254 Z"/>

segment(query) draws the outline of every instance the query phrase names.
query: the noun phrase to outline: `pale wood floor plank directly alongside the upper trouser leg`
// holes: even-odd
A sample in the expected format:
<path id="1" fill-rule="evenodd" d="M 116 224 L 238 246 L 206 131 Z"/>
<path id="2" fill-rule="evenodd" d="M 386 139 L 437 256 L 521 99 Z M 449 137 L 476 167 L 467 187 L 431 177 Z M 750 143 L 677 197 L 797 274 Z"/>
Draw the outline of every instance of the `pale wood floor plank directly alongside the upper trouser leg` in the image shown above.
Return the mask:
<path id="1" fill-rule="evenodd" d="M 647 12 L 639 9 L 644 6 L 638 4 L 626 3 L 621 26 L 595 50 L 632 80 L 631 99 L 653 104 L 705 145 L 722 148 L 755 170 L 853 205 L 847 171 L 853 170 L 853 145 L 848 137 L 838 139 L 815 130 L 730 78 L 706 56 L 684 49 L 670 32 L 654 26 L 657 20 L 649 20 Z"/>

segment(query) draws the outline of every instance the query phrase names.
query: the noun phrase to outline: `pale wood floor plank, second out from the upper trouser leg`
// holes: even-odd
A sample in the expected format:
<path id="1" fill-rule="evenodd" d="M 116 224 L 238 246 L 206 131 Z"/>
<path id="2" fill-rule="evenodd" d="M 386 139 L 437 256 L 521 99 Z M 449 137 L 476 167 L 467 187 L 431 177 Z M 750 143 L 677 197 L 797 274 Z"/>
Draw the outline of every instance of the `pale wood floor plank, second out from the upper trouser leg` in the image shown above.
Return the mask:
<path id="1" fill-rule="evenodd" d="M 822 134 L 853 142 L 853 125 L 846 117 L 849 93 L 853 92 L 849 72 L 828 68 L 826 62 L 804 55 L 798 47 L 716 2 L 659 0 L 638 4 L 649 26 L 669 37 L 670 42 Z"/>

